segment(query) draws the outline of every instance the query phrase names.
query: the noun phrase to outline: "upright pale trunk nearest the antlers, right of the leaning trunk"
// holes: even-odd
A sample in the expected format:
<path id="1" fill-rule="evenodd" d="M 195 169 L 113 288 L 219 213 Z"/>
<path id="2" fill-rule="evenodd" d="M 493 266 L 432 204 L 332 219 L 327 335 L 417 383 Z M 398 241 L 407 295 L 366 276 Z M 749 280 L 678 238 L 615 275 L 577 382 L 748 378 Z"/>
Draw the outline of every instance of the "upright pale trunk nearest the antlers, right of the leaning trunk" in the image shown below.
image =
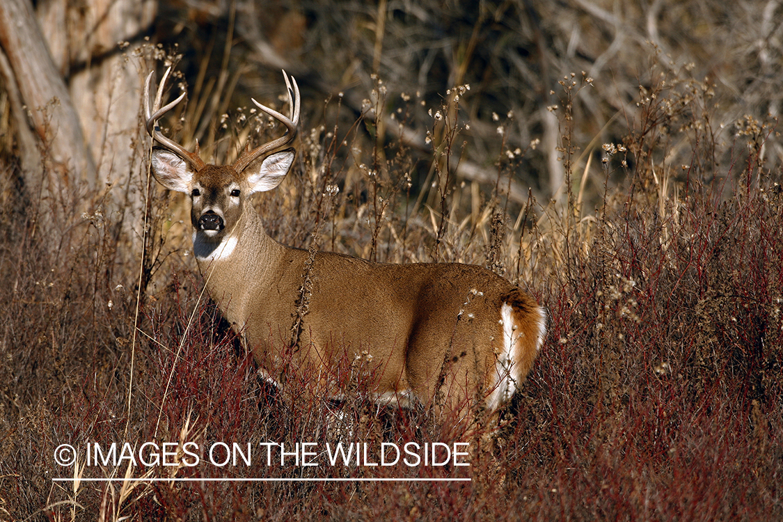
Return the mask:
<path id="1" fill-rule="evenodd" d="M 142 65 L 134 49 L 153 23 L 152 0 L 49 0 L 38 20 L 92 149 L 99 182 L 117 183 L 138 165 Z M 139 173 L 136 172 L 136 175 Z"/>

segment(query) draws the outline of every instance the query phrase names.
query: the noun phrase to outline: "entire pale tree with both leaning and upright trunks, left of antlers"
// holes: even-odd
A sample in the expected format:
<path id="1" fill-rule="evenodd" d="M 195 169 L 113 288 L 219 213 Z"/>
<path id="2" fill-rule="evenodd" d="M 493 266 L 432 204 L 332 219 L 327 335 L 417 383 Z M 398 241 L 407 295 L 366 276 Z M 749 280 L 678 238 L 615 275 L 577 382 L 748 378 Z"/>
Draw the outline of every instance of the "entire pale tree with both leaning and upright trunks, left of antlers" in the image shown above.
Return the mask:
<path id="1" fill-rule="evenodd" d="M 126 51 L 138 48 L 156 9 L 155 0 L 49 0 L 34 12 L 31 0 L 0 1 L 8 58 L 3 67 L 0 57 L 0 73 L 9 99 L 16 93 L 16 105 L 23 104 L 14 114 L 25 185 L 35 190 L 43 172 L 42 195 L 63 210 L 52 219 L 73 222 L 87 212 L 108 218 L 113 233 L 130 241 L 142 236 L 147 139 L 139 110 L 147 67 L 143 53 Z M 28 125 L 36 144 L 25 139 Z M 41 210 L 53 208 L 41 203 Z"/>

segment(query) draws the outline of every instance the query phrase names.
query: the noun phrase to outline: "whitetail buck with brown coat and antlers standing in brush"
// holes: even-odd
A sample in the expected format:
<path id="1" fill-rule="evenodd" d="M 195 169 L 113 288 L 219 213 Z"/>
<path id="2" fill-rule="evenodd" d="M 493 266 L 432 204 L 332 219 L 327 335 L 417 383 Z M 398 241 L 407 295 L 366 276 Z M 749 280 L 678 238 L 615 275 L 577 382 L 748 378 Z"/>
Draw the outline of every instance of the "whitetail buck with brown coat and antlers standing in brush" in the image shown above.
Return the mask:
<path id="1" fill-rule="evenodd" d="M 474 265 L 312 255 L 265 234 L 250 196 L 274 189 L 294 161 L 293 78 L 285 76 L 290 118 L 253 100 L 286 126 L 285 135 L 248 147 L 231 165 L 211 165 L 198 146 L 191 153 L 161 134 L 157 119 L 185 93 L 161 108 L 167 70 L 150 113 L 152 75 L 144 92 L 146 128 L 163 147 L 153 149 L 153 174 L 190 196 L 193 250 L 207 290 L 269 380 L 284 380 L 271 369 L 290 357 L 289 368 L 316 369 L 316 390 L 334 379 L 346 355 L 371 355 L 373 394 L 382 403 L 456 408 L 461 416 L 477 405 L 495 412 L 511 398 L 545 334 L 542 308 L 517 286 Z"/>

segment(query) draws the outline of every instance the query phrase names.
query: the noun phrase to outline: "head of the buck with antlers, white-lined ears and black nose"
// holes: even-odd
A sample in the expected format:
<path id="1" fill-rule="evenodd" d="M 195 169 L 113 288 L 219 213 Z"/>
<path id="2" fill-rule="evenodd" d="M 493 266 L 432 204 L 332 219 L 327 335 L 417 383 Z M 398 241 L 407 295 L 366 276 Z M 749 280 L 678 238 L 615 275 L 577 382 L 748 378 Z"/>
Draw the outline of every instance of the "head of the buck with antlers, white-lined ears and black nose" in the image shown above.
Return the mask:
<path id="1" fill-rule="evenodd" d="M 233 164 L 212 165 L 201 160 L 198 144 L 195 152 L 189 152 L 179 143 L 165 137 L 157 126 L 157 120 L 185 97 L 183 92 L 178 99 L 161 107 L 164 85 L 170 70 L 171 68 L 166 70 L 161 85 L 157 88 L 151 113 L 150 83 L 153 72 L 147 76 L 144 87 L 146 129 L 160 145 L 153 149 L 153 175 L 167 189 L 190 196 L 193 203 L 190 221 L 197 235 L 202 241 L 219 243 L 231 233 L 239 221 L 247 196 L 274 189 L 286 177 L 294 162 L 296 151 L 284 147 L 289 146 L 297 134 L 299 88 L 294 78 L 288 77 L 283 71 L 290 118 L 252 100 L 259 109 L 286 126 L 285 135 L 255 149 L 248 146 Z"/>

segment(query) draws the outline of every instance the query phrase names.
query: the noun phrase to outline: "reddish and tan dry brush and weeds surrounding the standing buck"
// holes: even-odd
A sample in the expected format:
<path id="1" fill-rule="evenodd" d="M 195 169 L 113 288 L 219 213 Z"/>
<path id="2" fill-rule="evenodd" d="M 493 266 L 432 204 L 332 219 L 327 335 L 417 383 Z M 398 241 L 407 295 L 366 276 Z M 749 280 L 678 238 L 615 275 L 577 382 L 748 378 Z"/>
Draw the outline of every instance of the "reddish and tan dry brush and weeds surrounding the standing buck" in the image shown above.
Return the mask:
<path id="1" fill-rule="evenodd" d="M 500 185 L 525 151 L 501 153 L 495 191 L 453 178 L 448 163 L 463 141 L 457 114 L 467 88 L 444 92 L 442 105 L 431 107 L 433 152 L 424 166 L 404 143 L 381 148 L 366 139 L 387 107 L 398 107 L 382 101 L 379 81 L 354 125 L 308 128 L 305 121 L 287 182 L 259 198 L 267 231 L 283 243 L 377 261 L 485 265 L 547 307 L 547 340 L 504 416 L 494 456 L 446 469 L 254 459 L 230 470 L 78 470 L 84 478 L 472 477 L 469 483 L 53 483 L 74 475 L 54 462 L 63 443 L 293 445 L 345 440 L 349 430 L 367 442 L 462 439 L 448 419 L 379 414 L 358 392 L 344 406 L 348 429 L 334 430 L 334 403 L 299 393 L 309 376 L 294 369 L 285 397 L 265 387 L 201 293 L 186 254 L 182 200 L 150 193 L 143 251 L 128 251 L 112 216 L 64 217 L 42 241 L 33 211 L 5 206 L 2 518 L 783 518 L 783 188 L 780 167 L 764 154 L 776 122 L 743 117 L 733 140 L 722 141 L 709 81 L 657 65 L 648 77 L 622 138 L 592 154 L 604 173 L 597 199 L 584 196 L 586 176 L 573 170 L 586 147 L 574 138 L 574 101 L 596 82 L 579 73 L 552 86 L 561 199 L 531 197 L 520 206 L 503 198 Z M 399 107 L 405 113 L 405 103 Z M 229 139 L 276 132 L 241 112 L 221 123 Z M 218 149 L 218 160 L 232 153 Z M 13 173 L 12 162 L 3 168 Z M 414 168 L 427 182 L 411 181 Z M 61 223 L 76 225 L 58 229 Z"/>

